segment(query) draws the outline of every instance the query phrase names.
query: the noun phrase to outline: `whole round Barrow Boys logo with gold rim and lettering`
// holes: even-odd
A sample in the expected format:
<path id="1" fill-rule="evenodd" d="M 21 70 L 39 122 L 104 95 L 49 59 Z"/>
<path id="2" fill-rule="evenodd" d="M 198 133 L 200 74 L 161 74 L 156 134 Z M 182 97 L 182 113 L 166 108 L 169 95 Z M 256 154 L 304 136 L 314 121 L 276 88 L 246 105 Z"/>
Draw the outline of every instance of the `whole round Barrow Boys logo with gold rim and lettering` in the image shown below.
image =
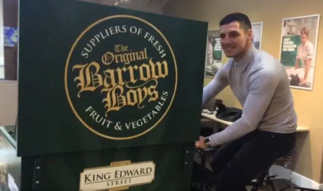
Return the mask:
<path id="1" fill-rule="evenodd" d="M 152 130 L 167 116 L 176 88 L 171 45 L 154 25 L 134 16 L 91 24 L 66 61 L 65 91 L 74 114 L 107 139 L 133 139 Z"/>

